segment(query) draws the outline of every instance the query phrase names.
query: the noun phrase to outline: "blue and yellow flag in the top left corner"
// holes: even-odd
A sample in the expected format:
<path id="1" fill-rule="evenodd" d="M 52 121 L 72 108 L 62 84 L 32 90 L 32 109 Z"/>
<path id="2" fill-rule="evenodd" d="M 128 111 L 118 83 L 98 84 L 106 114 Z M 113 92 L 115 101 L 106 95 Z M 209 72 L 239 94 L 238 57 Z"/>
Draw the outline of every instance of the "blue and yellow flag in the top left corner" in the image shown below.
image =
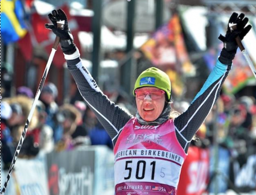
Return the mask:
<path id="1" fill-rule="evenodd" d="M 5 44 L 16 42 L 26 35 L 23 19 L 24 11 L 20 0 L 1 1 L 1 38 Z"/>

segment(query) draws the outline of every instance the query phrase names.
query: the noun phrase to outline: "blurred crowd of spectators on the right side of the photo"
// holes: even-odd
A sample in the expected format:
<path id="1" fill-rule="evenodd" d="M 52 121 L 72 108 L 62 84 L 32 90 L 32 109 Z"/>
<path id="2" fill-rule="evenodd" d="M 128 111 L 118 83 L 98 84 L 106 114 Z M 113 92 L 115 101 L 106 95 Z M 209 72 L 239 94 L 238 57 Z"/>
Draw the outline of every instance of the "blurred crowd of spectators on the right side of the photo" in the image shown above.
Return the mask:
<path id="1" fill-rule="evenodd" d="M 207 137 L 213 142 L 217 131 L 217 143 L 228 148 L 240 165 L 250 155 L 256 154 L 256 106 L 255 98 L 242 96 L 235 98 L 222 94 L 205 125 Z"/>

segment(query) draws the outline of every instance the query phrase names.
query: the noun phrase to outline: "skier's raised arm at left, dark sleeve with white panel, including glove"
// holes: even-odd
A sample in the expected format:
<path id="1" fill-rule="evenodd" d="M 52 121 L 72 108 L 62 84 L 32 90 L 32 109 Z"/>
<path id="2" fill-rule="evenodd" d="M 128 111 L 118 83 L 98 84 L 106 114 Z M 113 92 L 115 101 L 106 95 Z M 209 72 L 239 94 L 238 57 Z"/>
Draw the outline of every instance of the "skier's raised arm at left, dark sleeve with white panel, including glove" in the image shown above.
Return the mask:
<path id="1" fill-rule="evenodd" d="M 60 37 L 60 45 L 67 60 L 68 69 L 75 79 L 81 96 L 90 109 L 94 111 L 115 144 L 122 127 L 132 116 L 115 105 L 114 102 L 111 102 L 102 93 L 89 71 L 82 64 L 79 50 L 73 42 L 73 36 L 68 28 L 68 20 L 64 11 L 53 10 L 52 14 L 48 16 L 52 24 L 46 24 L 46 28 L 52 30 L 53 33 Z M 58 28 L 57 24 L 61 28 Z"/>

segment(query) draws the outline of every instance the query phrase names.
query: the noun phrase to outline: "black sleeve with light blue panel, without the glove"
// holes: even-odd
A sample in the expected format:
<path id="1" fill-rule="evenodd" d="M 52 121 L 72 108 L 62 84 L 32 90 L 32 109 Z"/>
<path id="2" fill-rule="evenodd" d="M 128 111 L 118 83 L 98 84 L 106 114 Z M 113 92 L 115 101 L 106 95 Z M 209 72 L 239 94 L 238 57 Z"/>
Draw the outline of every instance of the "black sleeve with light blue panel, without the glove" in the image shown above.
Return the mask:
<path id="1" fill-rule="evenodd" d="M 217 60 L 216 66 L 188 110 L 174 120 L 177 139 L 185 152 L 188 151 L 193 136 L 199 130 L 220 95 L 222 84 L 230 69 L 231 65 L 224 65 Z"/>

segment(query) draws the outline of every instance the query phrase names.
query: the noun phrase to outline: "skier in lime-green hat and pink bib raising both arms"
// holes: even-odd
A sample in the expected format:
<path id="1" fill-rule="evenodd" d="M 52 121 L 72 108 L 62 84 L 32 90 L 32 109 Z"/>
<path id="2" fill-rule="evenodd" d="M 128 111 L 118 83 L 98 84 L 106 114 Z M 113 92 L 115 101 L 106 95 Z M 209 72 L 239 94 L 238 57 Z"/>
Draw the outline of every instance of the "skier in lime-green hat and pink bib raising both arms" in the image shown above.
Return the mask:
<path id="1" fill-rule="evenodd" d="M 172 93 L 166 73 L 152 67 L 139 75 L 133 90 L 137 114 L 127 114 L 102 93 L 82 64 L 63 10 L 53 10 L 48 16 L 52 24 L 46 24 L 46 28 L 60 37 L 77 88 L 112 138 L 115 194 L 176 194 L 189 144 L 216 102 L 232 67 L 238 47 L 235 38 L 243 39 L 251 28 L 246 26 L 248 18 L 232 14 L 229 24 L 237 24 L 237 28 L 228 26 L 225 37 L 220 36 L 224 48 L 216 66 L 188 110 L 170 119 Z M 57 28 L 57 23 L 64 24 L 63 28 Z"/>

